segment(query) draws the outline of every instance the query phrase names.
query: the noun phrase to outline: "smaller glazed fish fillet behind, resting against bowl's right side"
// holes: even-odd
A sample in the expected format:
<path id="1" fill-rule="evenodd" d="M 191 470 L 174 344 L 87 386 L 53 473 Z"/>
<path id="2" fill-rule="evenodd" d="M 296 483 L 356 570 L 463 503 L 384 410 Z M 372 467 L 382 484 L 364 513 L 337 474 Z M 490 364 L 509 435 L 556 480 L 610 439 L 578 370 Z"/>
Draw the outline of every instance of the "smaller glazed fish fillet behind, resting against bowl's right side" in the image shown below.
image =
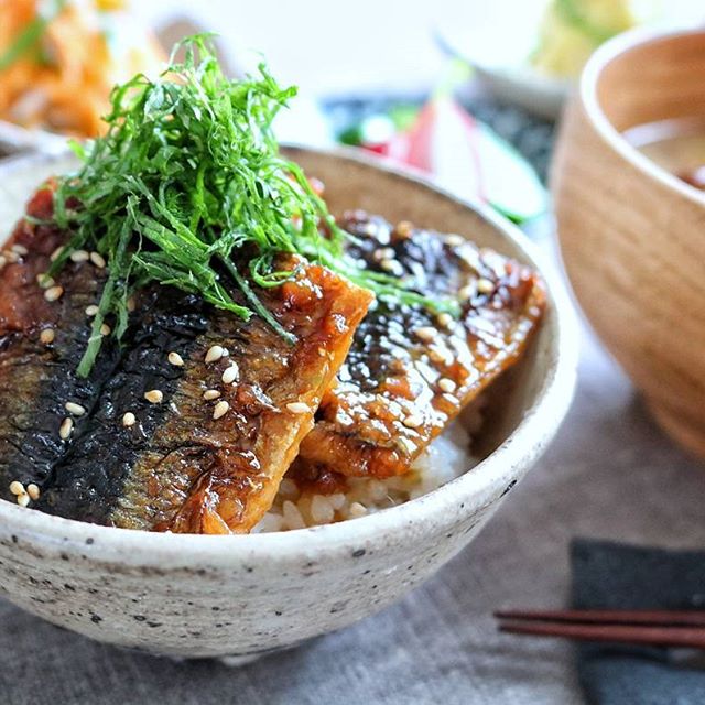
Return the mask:
<path id="1" fill-rule="evenodd" d="M 459 299 L 459 319 L 376 302 L 358 327 L 293 473 L 390 477 L 522 355 L 545 307 L 528 267 L 458 235 L 357 212 L 341 225 L 370 269 L 405 276 L 426 296 Z"/>

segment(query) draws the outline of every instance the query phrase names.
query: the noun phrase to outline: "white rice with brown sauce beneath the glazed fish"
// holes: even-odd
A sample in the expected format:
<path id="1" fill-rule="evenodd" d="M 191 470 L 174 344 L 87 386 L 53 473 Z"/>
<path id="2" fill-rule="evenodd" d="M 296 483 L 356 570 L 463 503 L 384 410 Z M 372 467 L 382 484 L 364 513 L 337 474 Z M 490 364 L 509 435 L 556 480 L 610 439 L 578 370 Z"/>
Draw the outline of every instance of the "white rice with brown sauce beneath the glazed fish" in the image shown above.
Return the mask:
<path id="1" fill-rule="evenodd" d="M 289 531 L 329 524 L 402 505 L 426 495 L 459 477 L 477 465 L 471 453 L 471 435 L 481 425 L 481 404 L 471 404 L 419 456 L 405 475 L 379 480 L 350 477 L 345 492 L 315 495 L 301 492 L 296 482 L 285 477 L 274 503 L 252 533 Z"/>

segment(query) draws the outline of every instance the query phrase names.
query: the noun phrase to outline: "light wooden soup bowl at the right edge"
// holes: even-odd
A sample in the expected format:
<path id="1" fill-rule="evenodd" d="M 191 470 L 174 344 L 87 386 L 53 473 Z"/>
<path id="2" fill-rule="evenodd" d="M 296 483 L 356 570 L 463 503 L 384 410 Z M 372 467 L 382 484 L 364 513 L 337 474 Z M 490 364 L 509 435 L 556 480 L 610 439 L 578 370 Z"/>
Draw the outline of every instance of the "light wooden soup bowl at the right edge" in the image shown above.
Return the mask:
<path id="1" fill-rule="evenodd" d="M 551 180 L 586 316 L 660 425 L 702 456 L 705 193 L 625 133 L 702 119 L 704 77 L 705 30 L 634 30 L 605 44 L 566 110 Z"/>

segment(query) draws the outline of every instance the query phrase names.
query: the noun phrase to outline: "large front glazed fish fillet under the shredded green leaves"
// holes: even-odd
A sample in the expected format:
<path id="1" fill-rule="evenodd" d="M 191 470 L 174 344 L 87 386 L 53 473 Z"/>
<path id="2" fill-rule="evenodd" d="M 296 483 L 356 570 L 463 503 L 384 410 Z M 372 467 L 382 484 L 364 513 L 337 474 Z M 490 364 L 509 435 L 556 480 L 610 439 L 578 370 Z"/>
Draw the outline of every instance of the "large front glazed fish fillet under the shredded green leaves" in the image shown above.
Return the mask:
<path id="1" fill-rule="evenodd" d="M 0 443 L 12 453 L 0 466 L 2 496 L 10 497 L 13 480 L 35 482 L 32 506 L 63 517 L 175 532 L 249 531 L 311 430 L 371 295 L 324 268 L 282 258 L 278 267 L 295 270 L 295 279 L 258 295 L 296 336 L 292 345 L 258 317 L 246 323 L 158 285 L 142 292 L 120 349 L 105 346 L 86 381 L 74 370 L 101 270 L 90 260 L 72 264 L 62 274 L 63 295 L 47 301 L 31 280 L 46 269 L 61 234 L 23 224 L 14 238 L 26 254 L 12 267 L 26 273 L 23 289 L 3 282 L 0 392 L 6 408 L 24 405 L 45 422 L 40 437 L 35 423 L 6 416 Z M 2 275 L 20 276 L 11 268 Z M 33 303 L 8 304 L 15 291 Z M 40 332 L 50 325 L 56 337 L 43 344 Z M 11 379 L 18 370 L 26 377 L 21 402 Z M 84 412 L 72 413 L 77 408 L 66 402 Z"/>

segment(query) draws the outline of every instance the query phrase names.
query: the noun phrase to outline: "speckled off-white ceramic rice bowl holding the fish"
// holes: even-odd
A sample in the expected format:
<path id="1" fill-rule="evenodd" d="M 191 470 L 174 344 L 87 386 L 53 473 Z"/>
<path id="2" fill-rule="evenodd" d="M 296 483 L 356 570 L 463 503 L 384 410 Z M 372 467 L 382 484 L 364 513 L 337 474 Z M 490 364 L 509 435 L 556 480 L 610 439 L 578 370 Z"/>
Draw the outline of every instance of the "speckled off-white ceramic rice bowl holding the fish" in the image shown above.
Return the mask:
<path id="1" fill-rule="evenodd" d="M 541 269 L 550 308 L 527 358 L 490 399 L 471 471 L 406 505 L 299 531 L 202 536 L 96 527 L 0 500 L 0 595 L 93 639 L 235 661 L 345 627 L 393 603 L 465 547 L 535 463 L 568 408 L 576 334 L 560 283 L 513 227 L 429 184 L 350 153 L 292 150 L 334 212 L 462 232 Z M 39 182 L 70 166 L 0 167 L 9 230 Z"/>

